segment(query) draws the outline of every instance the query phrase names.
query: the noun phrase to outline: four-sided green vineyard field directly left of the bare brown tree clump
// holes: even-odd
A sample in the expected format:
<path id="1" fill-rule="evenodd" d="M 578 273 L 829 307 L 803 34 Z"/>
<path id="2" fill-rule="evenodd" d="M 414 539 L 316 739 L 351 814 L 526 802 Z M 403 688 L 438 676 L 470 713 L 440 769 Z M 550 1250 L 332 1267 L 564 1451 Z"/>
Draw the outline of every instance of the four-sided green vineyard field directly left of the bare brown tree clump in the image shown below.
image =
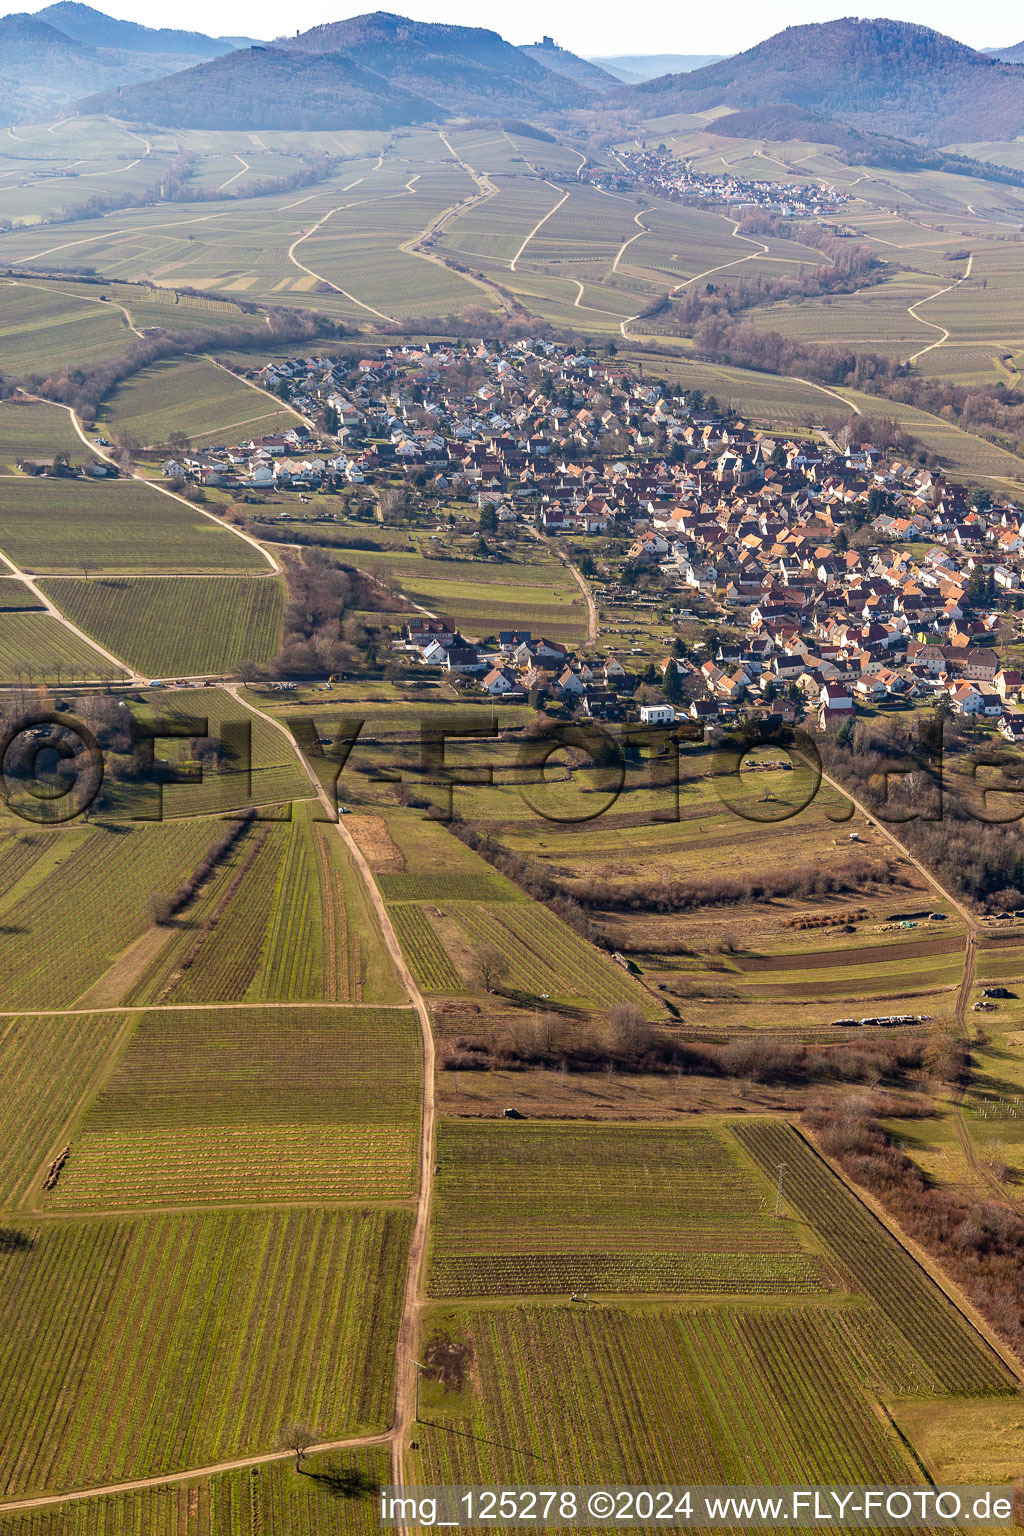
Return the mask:
<path id="1" fill-rule="evenodd" d="M 284 590 L 273 578 L 64 579 L 43 590 L 78 628 L 150 677 L 267 662 L 281 642 Z"/>

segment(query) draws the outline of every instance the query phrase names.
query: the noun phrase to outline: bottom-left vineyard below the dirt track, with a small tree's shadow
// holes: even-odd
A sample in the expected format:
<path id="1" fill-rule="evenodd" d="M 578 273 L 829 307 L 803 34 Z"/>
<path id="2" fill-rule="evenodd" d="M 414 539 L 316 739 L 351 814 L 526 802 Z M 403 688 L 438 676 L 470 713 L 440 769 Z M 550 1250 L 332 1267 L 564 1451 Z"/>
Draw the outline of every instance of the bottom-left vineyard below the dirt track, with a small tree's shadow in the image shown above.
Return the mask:
<path id="1" fill-rule="evenodd" d="M 388 1481 L 384 1448 L 292 1458 L 49 1510 L 0 1513 L 0 1536 L 372 1536 L 376 1488 Z"/>

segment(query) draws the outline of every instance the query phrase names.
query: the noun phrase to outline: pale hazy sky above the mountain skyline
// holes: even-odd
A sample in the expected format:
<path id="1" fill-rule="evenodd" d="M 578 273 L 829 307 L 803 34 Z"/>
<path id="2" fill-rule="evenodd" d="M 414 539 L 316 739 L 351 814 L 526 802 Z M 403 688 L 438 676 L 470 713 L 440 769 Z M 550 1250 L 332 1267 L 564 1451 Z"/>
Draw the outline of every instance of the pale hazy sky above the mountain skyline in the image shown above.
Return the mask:
<path id="1" fill-rule="evenodd" d="M 28 0 L 34 11 L 41 9 Z M 216 35 L 244 34 L 275 37 L 289 29 L 304 29 L 321 22 L 359 15 L 379 5 L 422 22 L 457 22 L 464 26 L 490 26 L 513 43 L 533 43 L 548 32 L 563 48 L 577 54 L 735 54 L 760 43 L 783 26 L 801 22 L 829 22 L 849 15 L 849 0 L 786 0 L 763 5 L 758 0 L 729 0 L 725 5 L 665 5 L 663 0 L 634 0 L 631 5 L 593 5 L 583 0 L 499 0 L 473 5 L 471 0 L 293 0 L 282 8 L 273 0 L 91 0 L 111 15 L 144 22 L 147 26 L 184 26 Z M 21 5 L 0 0 L 0 12 L 20 11 Z M 972 48 L 995 48 L 1024 40 L 1019 0 L 883 0 L 872 14 L 938 28 Z"/>

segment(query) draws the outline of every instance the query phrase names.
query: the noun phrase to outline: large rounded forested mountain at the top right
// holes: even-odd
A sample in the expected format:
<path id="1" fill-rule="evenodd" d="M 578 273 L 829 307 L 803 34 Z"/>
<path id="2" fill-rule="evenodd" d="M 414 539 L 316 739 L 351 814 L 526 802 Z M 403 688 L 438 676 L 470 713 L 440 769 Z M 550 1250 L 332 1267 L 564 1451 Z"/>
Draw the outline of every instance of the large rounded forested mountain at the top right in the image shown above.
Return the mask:
<path id="1" fill-rule="evenodd" d="M 649 80 L 614 100 L 645 117 L 788 101 L 927 144 L 1024 131 L 1022 69 L 927 26 L 884 18 L 789 26 L 734 58 Z"/>

